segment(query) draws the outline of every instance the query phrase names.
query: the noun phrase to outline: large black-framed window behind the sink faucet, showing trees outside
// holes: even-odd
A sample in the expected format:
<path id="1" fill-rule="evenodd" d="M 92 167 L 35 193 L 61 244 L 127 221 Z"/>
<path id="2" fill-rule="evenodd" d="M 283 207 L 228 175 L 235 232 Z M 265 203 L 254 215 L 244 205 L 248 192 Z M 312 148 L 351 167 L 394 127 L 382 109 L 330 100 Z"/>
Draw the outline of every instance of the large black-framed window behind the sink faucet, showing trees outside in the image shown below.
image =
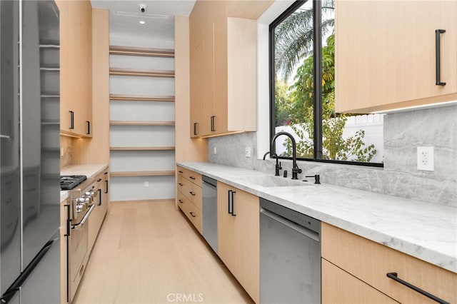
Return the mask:
<path id="1" fill-rule="evenodd" d="M 296 1 L 270 24 L 270 139 L 291 133 L 301 160 L 383 166 L 383 115 L 335 113 L 334 18 L 333 0 Z M 290 158 L 290 139 L 274 150 Z"/>

